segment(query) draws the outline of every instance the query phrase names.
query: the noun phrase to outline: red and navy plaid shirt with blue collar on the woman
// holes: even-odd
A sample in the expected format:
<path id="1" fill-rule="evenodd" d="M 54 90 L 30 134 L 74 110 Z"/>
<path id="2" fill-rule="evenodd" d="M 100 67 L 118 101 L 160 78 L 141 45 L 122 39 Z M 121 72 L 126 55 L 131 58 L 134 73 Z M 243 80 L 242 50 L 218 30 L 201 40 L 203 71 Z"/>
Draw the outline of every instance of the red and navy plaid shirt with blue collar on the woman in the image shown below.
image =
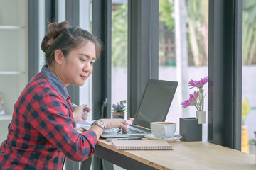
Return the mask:
<path id="1" fill-rule="evenodd" d="M 63 169 L 65 157 L 85 160 L 97 143 L 92 130 L 75 130 L 68 92 L 46 67 L 22 91 L 8 130 L 0 169 Z"/>

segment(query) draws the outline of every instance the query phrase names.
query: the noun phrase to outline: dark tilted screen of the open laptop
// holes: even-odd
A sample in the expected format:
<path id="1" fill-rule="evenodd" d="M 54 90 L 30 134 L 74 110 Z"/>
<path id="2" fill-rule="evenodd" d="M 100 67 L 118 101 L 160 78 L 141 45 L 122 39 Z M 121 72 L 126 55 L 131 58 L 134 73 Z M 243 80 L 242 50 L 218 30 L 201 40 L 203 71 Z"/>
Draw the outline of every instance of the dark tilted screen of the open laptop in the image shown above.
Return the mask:
<path id="1" fill-rule="evenodd" d="M 149 79 L 133 124 L 150 128 L 151 122 L 165 121 L 177 86 L 176 81 Z"/>

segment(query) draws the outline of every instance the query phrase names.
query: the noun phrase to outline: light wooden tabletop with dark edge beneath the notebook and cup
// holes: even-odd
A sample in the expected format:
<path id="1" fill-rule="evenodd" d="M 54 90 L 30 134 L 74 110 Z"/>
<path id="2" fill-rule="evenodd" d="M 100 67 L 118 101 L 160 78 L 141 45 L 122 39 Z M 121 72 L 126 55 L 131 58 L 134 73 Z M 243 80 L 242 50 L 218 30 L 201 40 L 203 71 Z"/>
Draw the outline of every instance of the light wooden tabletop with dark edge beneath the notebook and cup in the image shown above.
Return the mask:
<path id="1" fill-rule="evenodd" d="M 117 150 L 99 140 L 95 155 L 124 169 L 256 169 L 255 155 L 209 142 L 171 142 L 174 150 Z"/>

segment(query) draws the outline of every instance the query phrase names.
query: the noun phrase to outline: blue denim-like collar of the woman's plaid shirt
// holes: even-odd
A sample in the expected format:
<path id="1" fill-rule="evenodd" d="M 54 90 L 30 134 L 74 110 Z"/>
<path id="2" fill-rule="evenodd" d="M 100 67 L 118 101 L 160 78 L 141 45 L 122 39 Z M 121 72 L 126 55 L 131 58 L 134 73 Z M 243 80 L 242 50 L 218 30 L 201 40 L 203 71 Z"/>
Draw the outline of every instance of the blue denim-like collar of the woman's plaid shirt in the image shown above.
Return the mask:
<path id="1" fill-rule="evenodd" d="M 63 84 L 61 83 L 60 79 L 56 77 L 53 72 L 50 72 L 50 69 L 47 68 L 48 66 L 45 65 L 41 69 L 41 74 L 43 77 L 45 77 L 51 85 L 58 91 L 58 93 L 63 96 L 66 100 L 69 98 L 68 91 L 63 87 Z"/>

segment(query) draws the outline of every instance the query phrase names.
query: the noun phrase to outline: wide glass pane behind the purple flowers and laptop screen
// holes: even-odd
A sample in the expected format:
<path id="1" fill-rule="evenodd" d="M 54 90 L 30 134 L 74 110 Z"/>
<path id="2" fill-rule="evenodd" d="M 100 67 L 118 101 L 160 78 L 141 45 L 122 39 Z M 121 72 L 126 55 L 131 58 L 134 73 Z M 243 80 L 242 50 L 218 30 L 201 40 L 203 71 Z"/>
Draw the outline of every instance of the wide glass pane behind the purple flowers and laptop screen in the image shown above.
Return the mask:
<path id="1" fill-rule="evenodd" d="M 208 1 L 160 0 L 159 1 L 159 79 L 178 81 L 178 88 L 171 103 L 166 121 L 177 123 L 179 118 L 196 117 L 196 107 L 182 108 L 189 94 L 188 81 L 199 81 L 208 76 Z M 203 140 L 207 140 L 208 84 L 203 86 L 206 124 Z"/>

